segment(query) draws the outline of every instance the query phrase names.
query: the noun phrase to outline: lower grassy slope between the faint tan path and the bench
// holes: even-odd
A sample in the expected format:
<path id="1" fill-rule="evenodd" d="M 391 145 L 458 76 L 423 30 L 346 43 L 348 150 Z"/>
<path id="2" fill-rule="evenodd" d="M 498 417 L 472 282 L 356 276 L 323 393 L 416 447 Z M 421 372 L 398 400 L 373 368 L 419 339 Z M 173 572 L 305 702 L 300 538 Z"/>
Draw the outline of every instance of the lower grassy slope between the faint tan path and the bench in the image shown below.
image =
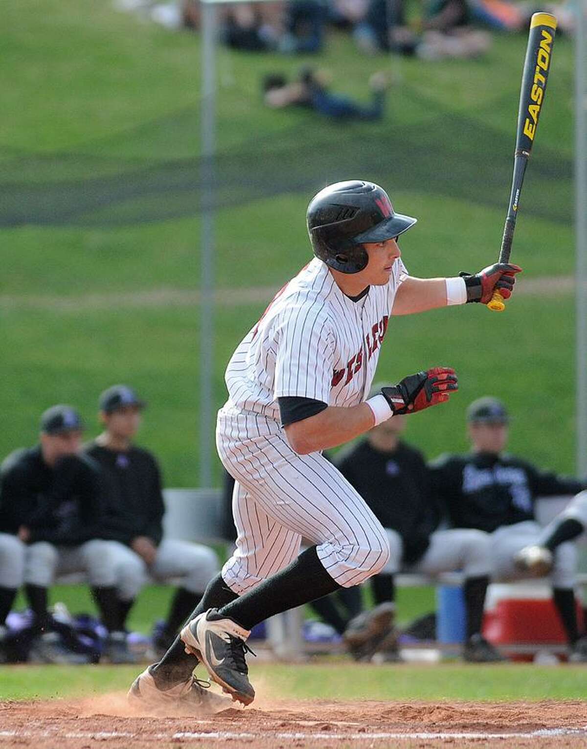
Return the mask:
<path id="1" fill-rule="evenodd" d="M 263 309 L 261 302 L 218 311 L 216 322 L 225 331 L 216 344 L 219 403 L 225 392 L 225 361 L 235 340 L 228 331 L 237 324 L 248 329 Z M 140 306 L 119 311 L 4 312 L 11 366 L 0 398 L 10 393 L 15 399 L 10 422 L 13 440 L 19 444 L 33 438 L 41 404 L 52 400 L 85 403 L 91 420 L 94 396 L 104 383 L 131 380 L 150 401 L 141 437 L 162 456 L 166 482 L 193 485 L 198 471 L 199 413 L 195 312 Z M 501 316 L 480 306 L 466 306 L 393 321 L 381 354 L 380 379 L 436 363 L 454 366 L 460 374 L 457 398 L 442 406 L 442 411 L 431 410 L 413 419 L 408 428 L 410 440 L 430 456 L 447 449 L 465 450 L 466 404 L 481 392 L 490 392 L 501 395 L 514 413 L 512 450 L 571 472 L 574 372 L 573 331 L 568 321 L 572 317 L 572 300 L 567 297 L 556 297 L 552 306 L 544 306 L 537 297 L 520 297 Z M 406 345 L 398 351 L 393 345 L 396 341 Z M 537 377 L 540 380 L 537 372 L 556 377 L 556 408 L 545 407 L 542 390 L 531 384 Z M 91 423 L 90 432 L 95 434 L 97 425 Z M 8 434 L 2 439 L 7 452 Z"/>

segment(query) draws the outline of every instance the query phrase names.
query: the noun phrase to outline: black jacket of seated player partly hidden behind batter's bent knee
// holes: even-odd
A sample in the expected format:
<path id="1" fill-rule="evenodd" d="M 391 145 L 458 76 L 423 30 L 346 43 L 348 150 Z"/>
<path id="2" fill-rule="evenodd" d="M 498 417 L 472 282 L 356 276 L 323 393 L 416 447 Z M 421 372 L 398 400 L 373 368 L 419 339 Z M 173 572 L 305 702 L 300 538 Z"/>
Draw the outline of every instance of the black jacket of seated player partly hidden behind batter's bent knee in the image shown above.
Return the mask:
<path id="1" fill-rule="evenodd" d="M 422 453 L 403 442 L 394 452 L 379 452 L 362 440 L 336 464 L 383 527 L 400 534 L 404 562 L 419 560 L 439 521 Z"/>

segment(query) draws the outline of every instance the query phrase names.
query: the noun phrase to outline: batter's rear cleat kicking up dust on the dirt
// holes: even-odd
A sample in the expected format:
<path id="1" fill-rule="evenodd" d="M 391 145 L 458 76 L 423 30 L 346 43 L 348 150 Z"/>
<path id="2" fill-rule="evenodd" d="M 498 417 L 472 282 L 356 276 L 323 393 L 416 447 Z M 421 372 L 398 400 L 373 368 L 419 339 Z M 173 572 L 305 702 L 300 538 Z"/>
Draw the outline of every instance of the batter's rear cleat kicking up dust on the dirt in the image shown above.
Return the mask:
<path id="1" fill-rule="evenodd" d="M 152 668 L 149 666 L 139 674 L 128 691 L 128 703 L 137 712 L 170 718 L 176 715 L 202 718 L 228 710 L 232 704 L 228 697 L 210 691 L 207 688 L 210 682 L 201 682 L 193 676 L 171 689 L 159 689 L 151 676 Z"/>

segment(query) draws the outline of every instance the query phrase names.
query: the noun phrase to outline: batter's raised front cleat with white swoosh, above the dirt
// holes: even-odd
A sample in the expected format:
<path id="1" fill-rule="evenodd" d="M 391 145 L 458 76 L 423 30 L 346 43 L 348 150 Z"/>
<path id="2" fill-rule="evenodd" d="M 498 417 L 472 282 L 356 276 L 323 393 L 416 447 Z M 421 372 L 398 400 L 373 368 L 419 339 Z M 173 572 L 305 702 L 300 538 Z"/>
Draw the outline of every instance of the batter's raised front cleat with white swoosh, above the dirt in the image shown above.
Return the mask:
<path id="1" fill-rule="evenodd" d="M 252 652 L 245 643 L 249 634 L 249 630 L 222 616 L 217 609 L 196 616 L 180 632 L 186 652 L 197 655 L 210 678 L 243 705 L 250 705 L 255 699 L 245 661 L 246 652 Z"/>

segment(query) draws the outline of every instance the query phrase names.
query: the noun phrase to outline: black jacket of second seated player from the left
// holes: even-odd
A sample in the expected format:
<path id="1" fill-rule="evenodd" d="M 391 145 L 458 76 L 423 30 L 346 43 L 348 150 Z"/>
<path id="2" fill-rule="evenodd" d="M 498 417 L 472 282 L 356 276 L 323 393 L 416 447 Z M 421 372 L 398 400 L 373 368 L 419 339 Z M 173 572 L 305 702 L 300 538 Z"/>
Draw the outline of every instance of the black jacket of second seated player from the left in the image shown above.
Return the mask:
<path id="1" fill-rule="evenodd" d="M 140 447 L 111 450 L 92 442 L 85 453 L 100 466 L 103 523 L 100 538 L 130 545 L 147 536 L 159 545 L 165 514 L 161 474 L 155 458 Z"/>

